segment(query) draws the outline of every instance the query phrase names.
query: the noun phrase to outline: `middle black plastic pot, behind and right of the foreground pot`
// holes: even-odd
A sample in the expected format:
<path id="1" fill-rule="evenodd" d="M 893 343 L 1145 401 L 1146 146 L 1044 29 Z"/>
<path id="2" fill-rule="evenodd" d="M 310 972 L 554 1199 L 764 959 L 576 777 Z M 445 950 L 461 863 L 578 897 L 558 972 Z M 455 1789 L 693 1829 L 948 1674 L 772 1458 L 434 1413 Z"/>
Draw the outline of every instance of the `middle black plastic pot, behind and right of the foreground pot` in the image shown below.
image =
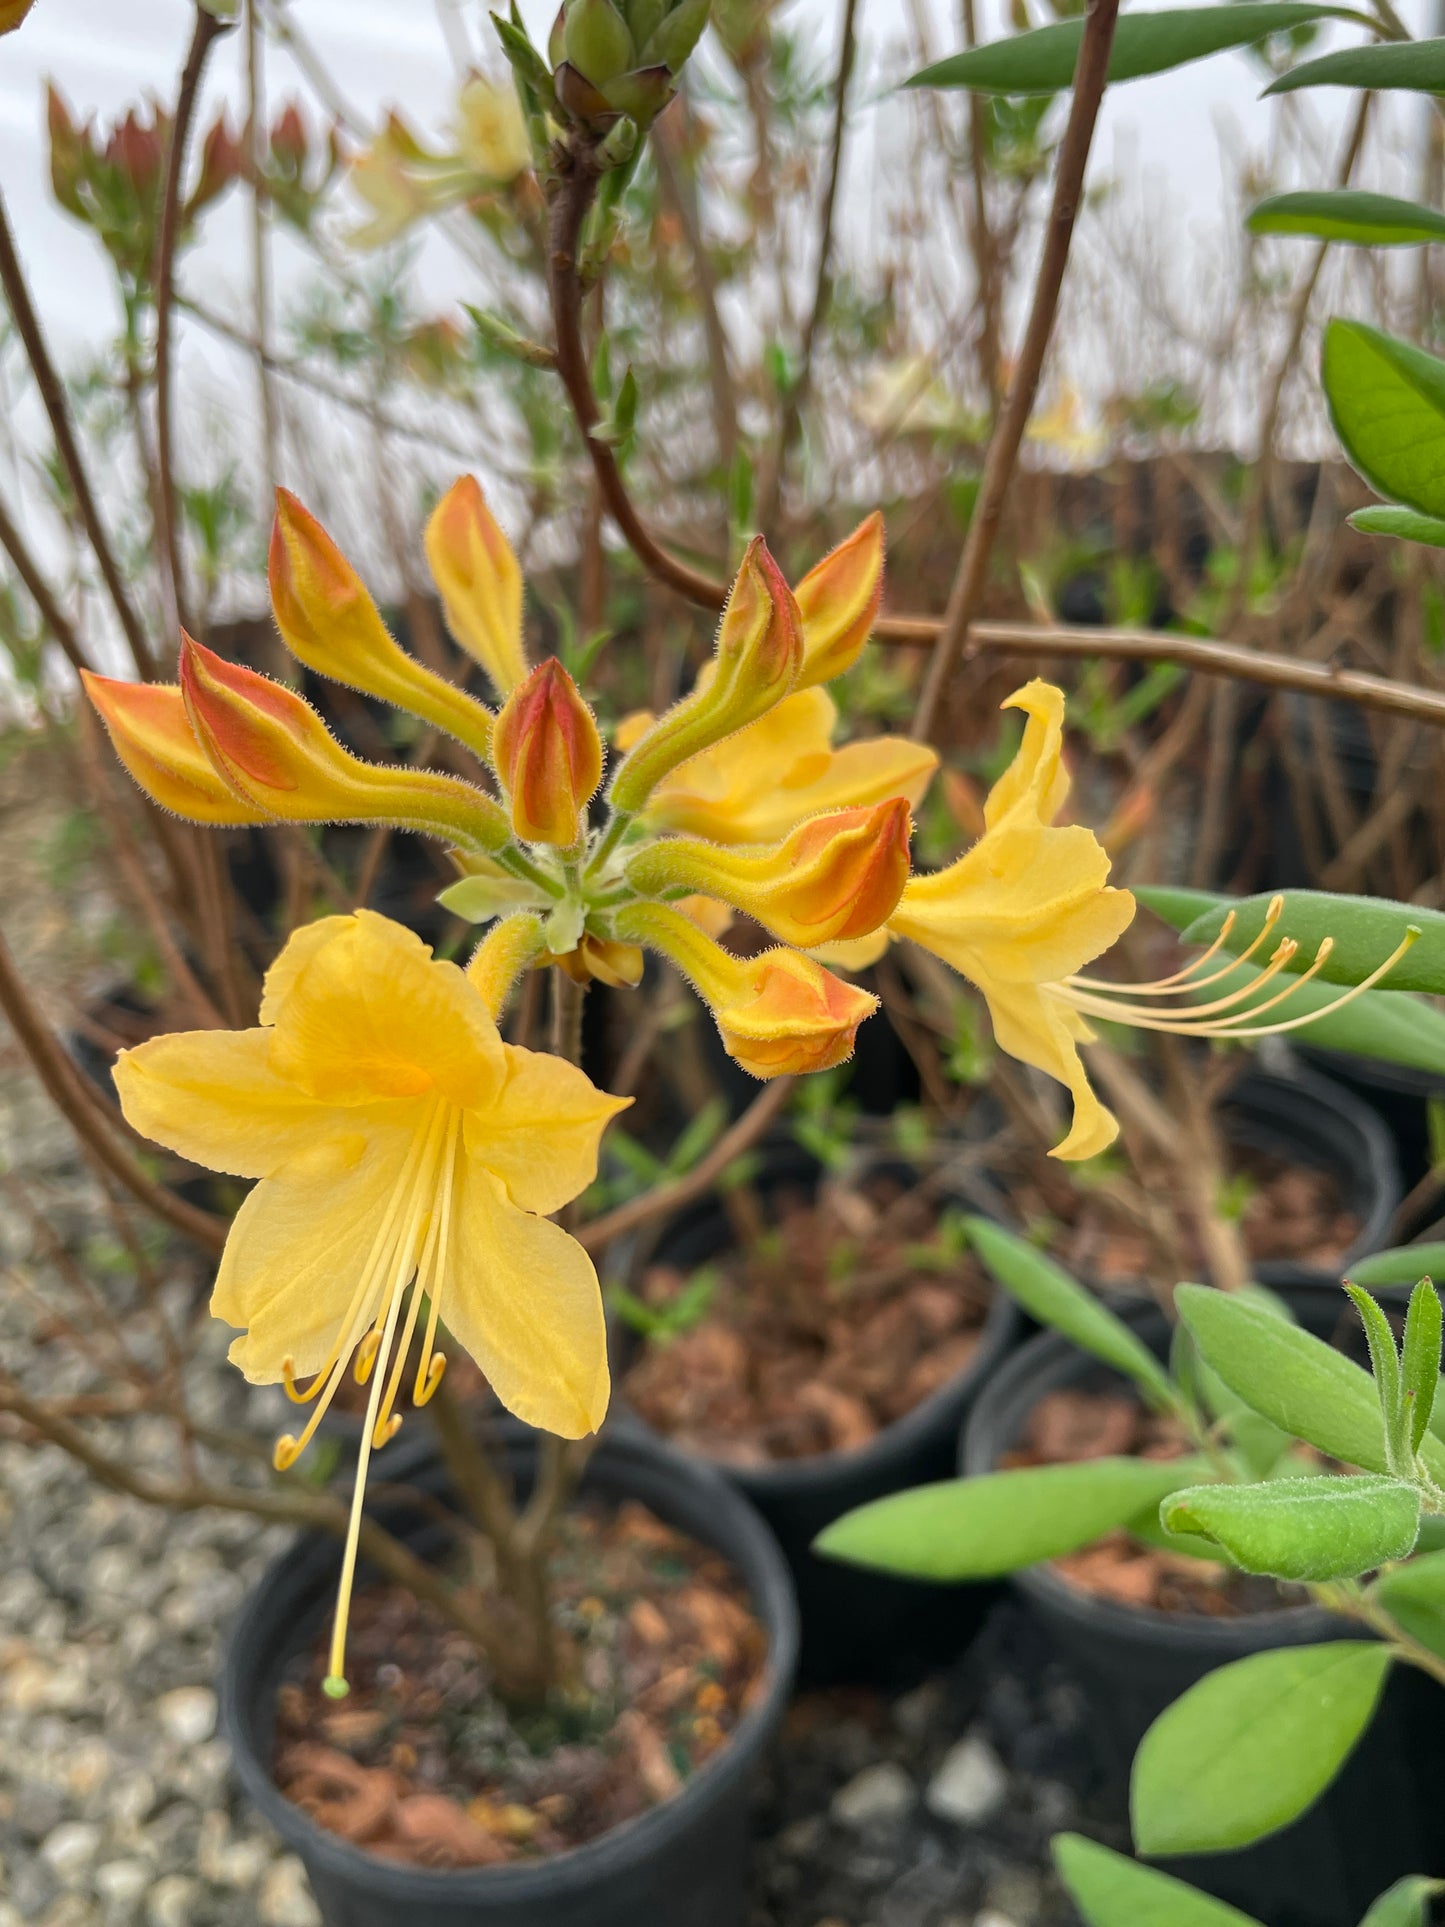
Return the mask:
<path id="1" fill-rule="evenodd" d="M 769 1154 L 753 1183 L 767 1201 L 790 1187 L 811 1193 L 819 1179 L 819 1164 L 786 1145 Z M 959 1183 L 948 1199 L 967 1210 L 998 1216 L 998 1201 L 983 1185 Z M 669 1224 L 655 1256 L 661 1264 L 690 1272 L 732 1245 L 732 1226 L 722 1208 L 717 1201 L 703 1201 Z M 809 1684 L 904 1686 L 956 1657 L 979 1632 L 992 1603 L 986 1588 L 927 1586 L 863 1572 L 817 1559 L 811 1545 L 825 1526 L 855 1505 L 952 1474 L 958 1428 L 979 1387 L 1017 1343 L 1019 1332 L 1017 1307 L 1004 1291 L 996 1291 L 967 1368 L 867 1445 L 813 1459 L 719 1466 L 769 1522 L 788 1561 L 803 1626 L 800 1671 Z M 622 1337 L 618 1345 L 618 1378 L 626 1370 L 630 1345 L 636 1339 Z M 624 1422 L 655 1436 L 632 1411 Z"/>

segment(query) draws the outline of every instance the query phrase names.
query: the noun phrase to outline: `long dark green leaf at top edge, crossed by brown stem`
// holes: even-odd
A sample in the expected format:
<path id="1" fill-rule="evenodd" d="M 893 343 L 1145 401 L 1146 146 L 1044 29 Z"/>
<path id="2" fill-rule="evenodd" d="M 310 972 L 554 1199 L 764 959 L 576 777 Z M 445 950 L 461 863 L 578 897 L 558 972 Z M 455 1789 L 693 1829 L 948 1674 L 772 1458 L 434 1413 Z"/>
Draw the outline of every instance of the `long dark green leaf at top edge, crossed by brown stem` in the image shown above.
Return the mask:
<path id="1" fill-rule="evenodd" d="M 1168 73 L 1191 60 L 1248 46 L 1272 33 L 1289 33 L 1316 19 L 1354 19 L 1337 6 L 1300 6 L 1293 0 L 1237 0 L 1233 6 L 1171 8 L 1164 13 L 1121 13 L 1110 52 L 1110 85 Z M 1062 19 L 1008 40 L 990 40 L 963 54 L 950 54 L 909 79 L 909 87 L 969 87 L 979 94 L 1058 94 L 1073 85 L 1083 19 Z"/>

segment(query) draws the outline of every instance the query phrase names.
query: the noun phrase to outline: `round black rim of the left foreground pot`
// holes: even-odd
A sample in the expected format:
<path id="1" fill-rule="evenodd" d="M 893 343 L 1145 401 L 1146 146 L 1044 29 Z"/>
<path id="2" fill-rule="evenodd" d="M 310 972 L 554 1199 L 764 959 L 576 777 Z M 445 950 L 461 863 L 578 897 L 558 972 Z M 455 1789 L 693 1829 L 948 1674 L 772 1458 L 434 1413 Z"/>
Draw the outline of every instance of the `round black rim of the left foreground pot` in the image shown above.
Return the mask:
<path id="1" fill-rule="evenodd" d="M 512 1457 L 526 1453 L 536 1438 L 514 1420 L 497 1426 L 497 1432 Z M 247 1634 L 262 1638 L 268 1632 L 264 1601 L 274 1582 L 291 1576 L 293 1586 L 304 1590 L 306 1605 L 293 1615 L 293 1624 L 310 1615 L 316 1596 L 326 1596 L 335 1586 L 341 1547 L 331 1540 L 318 1542 L 302 1536 L 272 1561 L 231 1623 L 220 1676 L 220 1725 L 231 1746 L 243 1790 L 308 1867 L 322 1867 L 326 1873 L 397 1902 L 445 1900 L 447 1904 L 491 1902 L 503 1906 L 549 1894 L 561 1898 L 645 1861 L 667 1836 L 686 1829 L 696 1815 L 715 1806 L 753 1769 L 788 1705 L 798 1665 L 798 1603 L 788 1567 L 773 1534 L 749 1501 L 719 1478 L 711 1466 L 686 1459 L 665 1441 L 638 1438 L 632 1432 L 609 1432 L 588 1465 L 582 1488 L 586 1490 L 588 1480 L 597 1470 L 615 1472 L 617 1478 L 607 1478 L 605 1484 L 617 1490 L 618 1497 L 626 1497 L 630 1465 L 644 1465 L 663 1474 L 665 1482 L 674 1488 L 709 1488 L 699 1493 L 699 1511 L 732 1526 L 732 1551 L 719 1545 L 701 1526 L 682 1528 L 701 1544 L 711 1545 L 713 1551 L 722 1553 L 742 1574 L 769 1640 L 761 1675 L 763 1690 L 746 1707 L 726 1744 L 697 1769 L 672 1800 L 647 1808 L 645 1813 L 622 1821 L 620 1827 L 613 1827 L 595 1840 L 555 1854 L 551 1860 L 528 1865 L 435 1869 L 368 1854 L 318 1827 L 287 1800 L 276 1784 L 270 1765 L 256 1754 L 243 1711 L 254 1696 L 245 1690 L 241 1650 Z M 439 1457 L 435 1466 L 441 1468 Z M 410 1468 L 412 1482 L 418 1482 L 424 1472 L 424 1466 L 414 1465 Z M 276 1644 L 276 1634 L 270 1632 L 264 1650 L 274 1651 Z"/>

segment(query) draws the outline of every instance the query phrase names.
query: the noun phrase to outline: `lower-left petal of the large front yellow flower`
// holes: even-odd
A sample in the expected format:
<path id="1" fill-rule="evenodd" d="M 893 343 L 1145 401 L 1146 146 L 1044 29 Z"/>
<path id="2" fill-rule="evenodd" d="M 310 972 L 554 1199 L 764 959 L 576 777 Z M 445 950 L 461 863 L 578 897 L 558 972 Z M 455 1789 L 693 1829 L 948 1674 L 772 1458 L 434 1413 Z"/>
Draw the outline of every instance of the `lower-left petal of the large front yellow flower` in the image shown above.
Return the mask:
<path id="1" fill-rule="evenodd" d="M 231 1362 L 252 1386 L 318 1372 L 366 1276 L 378 1229 L 414 1145 L 418 1108 L 393 1106 L 387 1123 L 341 1135 L 266 1177 L 225 1239 L 212 1316 L 239 1326 Z M 376 1272 L 356 1320 L 374 1314 L 389 1272 Z"/>

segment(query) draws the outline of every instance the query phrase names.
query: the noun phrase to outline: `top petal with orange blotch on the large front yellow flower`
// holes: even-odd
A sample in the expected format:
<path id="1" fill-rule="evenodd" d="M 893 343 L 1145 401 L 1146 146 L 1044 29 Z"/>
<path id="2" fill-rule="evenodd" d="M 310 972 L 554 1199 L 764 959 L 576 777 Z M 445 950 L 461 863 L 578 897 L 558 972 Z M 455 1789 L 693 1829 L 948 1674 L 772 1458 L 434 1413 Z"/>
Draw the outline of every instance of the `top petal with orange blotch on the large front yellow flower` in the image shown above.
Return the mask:
<path id="1" fill-rule="evenodd" d="M 482 992 L 412 931 L 370 910 L 314 942 L 276 1012 L 272 1062 L 333 1104 L 441 1091 L 486 1104 L 505 1075 Z"/>

